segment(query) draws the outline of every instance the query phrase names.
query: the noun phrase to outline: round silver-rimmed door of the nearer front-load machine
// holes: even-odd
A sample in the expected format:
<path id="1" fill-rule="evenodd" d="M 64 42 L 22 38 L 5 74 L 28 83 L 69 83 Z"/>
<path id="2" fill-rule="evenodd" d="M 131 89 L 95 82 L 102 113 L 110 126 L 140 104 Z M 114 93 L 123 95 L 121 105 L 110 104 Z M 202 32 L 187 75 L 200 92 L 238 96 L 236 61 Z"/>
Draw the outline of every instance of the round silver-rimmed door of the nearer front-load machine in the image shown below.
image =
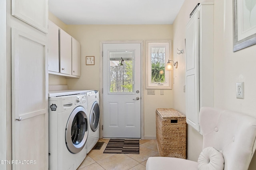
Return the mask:
<path id="1" fill-rule="evenodd" d="M 66 146 L 72 153 L 78 153 L 83 148 L 88 137 L 88 118 L 84 107 L 76 107 L 69 116 L 66 126 Z"/>

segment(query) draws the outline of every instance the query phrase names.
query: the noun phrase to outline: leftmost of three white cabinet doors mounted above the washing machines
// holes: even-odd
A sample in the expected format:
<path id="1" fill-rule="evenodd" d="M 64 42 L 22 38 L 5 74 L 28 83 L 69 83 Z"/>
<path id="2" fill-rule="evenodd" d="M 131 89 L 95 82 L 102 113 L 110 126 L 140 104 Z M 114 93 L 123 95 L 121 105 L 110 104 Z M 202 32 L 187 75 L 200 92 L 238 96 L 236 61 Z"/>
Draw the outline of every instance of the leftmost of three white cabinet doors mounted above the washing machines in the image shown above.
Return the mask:
<path id="1" fill-rule="evenodd" d="M 60 72 L 59 27 L 48 21 L 48 70 Z"/>

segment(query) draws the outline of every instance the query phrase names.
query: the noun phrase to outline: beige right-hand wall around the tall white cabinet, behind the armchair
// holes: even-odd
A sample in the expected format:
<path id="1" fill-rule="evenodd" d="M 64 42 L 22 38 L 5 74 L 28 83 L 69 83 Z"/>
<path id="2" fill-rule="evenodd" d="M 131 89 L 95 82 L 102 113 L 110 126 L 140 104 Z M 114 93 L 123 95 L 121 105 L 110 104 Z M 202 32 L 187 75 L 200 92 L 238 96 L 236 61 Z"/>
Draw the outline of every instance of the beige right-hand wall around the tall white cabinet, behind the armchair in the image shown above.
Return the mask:
<path id="1" fill-rule="evenodd" d="M 210 2 L 201 0 L 199 2 Z M 185 53 L 178 56 L 175 49 L 185 49 L 185 27 L 189 14 L 198 0 L 185 0 L 176 20 L 174 31 L 174 60 L 179 62 L 173 90 L 173 106 L 185 113 Z M 256 117 L 256 45 L 232 52 L 233 46 L 232 0 L 214 1 L 214 106 Z M 244 99 L 236 99 L 236 82 L 244 82 Z M 202 136 L 188 126 L 188 159 L 197 160 L 202 150 Z M 256 156 L 250 164 L 256 169 Z"/>

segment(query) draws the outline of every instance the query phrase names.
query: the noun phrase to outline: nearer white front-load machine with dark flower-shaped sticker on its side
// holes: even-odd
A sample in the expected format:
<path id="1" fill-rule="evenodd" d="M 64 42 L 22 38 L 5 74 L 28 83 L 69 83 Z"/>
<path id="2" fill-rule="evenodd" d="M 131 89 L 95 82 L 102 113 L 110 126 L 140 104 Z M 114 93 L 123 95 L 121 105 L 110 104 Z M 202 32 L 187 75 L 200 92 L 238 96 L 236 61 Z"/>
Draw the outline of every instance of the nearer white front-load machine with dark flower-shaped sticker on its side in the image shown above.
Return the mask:
<path id="1" fill-rule="evenodd" d="M 76 170 L 87 154 L 86 91 L 49 91 L 49 169 Z"/>

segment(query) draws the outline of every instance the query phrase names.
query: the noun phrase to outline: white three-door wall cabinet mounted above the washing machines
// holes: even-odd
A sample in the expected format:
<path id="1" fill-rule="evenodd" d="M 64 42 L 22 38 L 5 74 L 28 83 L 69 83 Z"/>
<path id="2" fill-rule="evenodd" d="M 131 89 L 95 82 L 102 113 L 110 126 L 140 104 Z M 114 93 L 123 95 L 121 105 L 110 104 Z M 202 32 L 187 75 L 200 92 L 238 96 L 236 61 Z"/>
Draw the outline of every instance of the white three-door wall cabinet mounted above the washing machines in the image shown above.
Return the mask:
<path id="1" fill-rule="evenodd" d="M 47 36 L 49 74 L 79 78 L 81 72 L 80 43 L 50 20 Z"/>

